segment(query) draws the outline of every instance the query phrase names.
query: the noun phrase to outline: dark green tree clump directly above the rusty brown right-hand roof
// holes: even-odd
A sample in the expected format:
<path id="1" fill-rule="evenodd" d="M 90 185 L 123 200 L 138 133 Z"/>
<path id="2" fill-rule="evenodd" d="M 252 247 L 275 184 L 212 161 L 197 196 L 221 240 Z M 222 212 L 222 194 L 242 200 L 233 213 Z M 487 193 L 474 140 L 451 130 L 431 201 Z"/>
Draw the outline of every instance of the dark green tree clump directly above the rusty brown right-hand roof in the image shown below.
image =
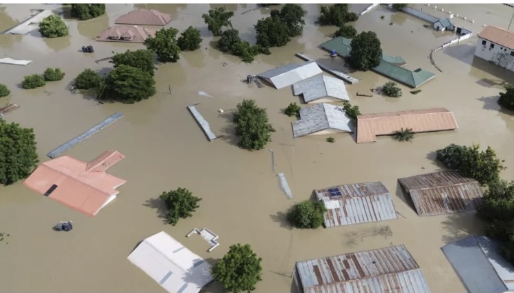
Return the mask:
<path id="1" fill-rule="evenodd" d="M 500 180 L 500 172 L 505 169 L 496 157 L 496 152 L 487 147 L 485 151 L 479 151 L 480 145 L 456 145 L 454 143 L 446 148 L 437 150 L 437 160 L 446 167 L 454 169 L 461 176 L 474 178 L 481 185 L 489 185 Z"/>

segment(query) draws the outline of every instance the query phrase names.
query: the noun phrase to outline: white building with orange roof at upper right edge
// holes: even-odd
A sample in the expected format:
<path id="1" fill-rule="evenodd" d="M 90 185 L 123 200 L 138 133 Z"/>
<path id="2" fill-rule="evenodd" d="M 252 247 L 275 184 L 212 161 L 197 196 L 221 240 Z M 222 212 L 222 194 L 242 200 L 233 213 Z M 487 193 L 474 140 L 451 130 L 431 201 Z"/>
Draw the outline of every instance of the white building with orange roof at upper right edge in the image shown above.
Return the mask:
<path id="1" fill-rule="evenodd" d="M 477 36 L 475 56 L 514 71 L 514 32 L 489 25 Z"/>

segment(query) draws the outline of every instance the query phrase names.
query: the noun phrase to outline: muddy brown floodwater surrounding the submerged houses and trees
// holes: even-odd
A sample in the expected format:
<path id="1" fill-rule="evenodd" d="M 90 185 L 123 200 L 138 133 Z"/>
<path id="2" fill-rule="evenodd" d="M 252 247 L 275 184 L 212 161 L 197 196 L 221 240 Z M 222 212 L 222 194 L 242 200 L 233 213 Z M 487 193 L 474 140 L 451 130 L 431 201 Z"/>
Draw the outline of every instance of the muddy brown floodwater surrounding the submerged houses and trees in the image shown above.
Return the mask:
<path id="1" fill-rule="evenodd" d="M 430 50 L 454 38 L 450 33 L 433 32 L 424 22 L 400 12 L 376 8 L 355 23 L 358 31 L 373 30 L 382 48 L 393 56 L 402 56 L 408 69 L 422 67 L 437 77 L 421 87 L 418 95 L 408 93 L 400 99 L 357 97 L 389 81 L 376 73 L 352 73 L 362 81 L 347 86 L 352 104 L 362 113 L 390 110 L 446 107 L 454 112 L 456 131 L 418 134 L 411 143 L 397 143 L 380 137 L 376 143 L 356 144 L 347 134 L 338 134 L 335 143 L 326 137 L 293 140 L 292 118 L 282 113 L 291 102 L 298 102 L 289 89 L 258 89 L 241 80 L 288 62 L 300 62 L 294 56 L 304 52 L 322 59 L 332 67 L 342 66 L 318 49 L 335 27 L 314 24 L 319 14 L 317 4 L 303 5 L 307 10 L 304 35 L 289 45 L 272 49 L 270 56 L 258 56 L 247 65 L 238 58 L 213 47 L 201 14 L 218 5 L 147 5 L 173 16 L 171 26 L 184 30 L 199 27 L 204 37 L 201 49 L 181 54 L 180 62 L 161 65 L 156 73 L 158 93 L 138 104 L 97 103 L 88 95 L 72 94 L 66 86 L 86 68 L 110 69 L 108 62 L 94 61 L 112 56 L 112 51 L 142 48 L 142 45 L 95 43 L 93 38 L 114 23 L 117 16 L 146 5 L 108 4 L 108 15 L 78 22 L 68 19 L 70 36 L 45 40 L 37 32 L 28 36 L 1 36 L 0 54 L 11 58 L 34 60 L 27 67 L 0 65 L 1 80 L 12 90 L 10 102 L 21 106 L 5 119 L 34 128 L 41 161 L 45 154 L 115 112 L 125 114 L 108 128 L 65 152 L 77 159 L 90 160 L 104 150 L 119 150 L 127 156 L 110 169 L 114 176 L 126 179 L 120 194 L 94 218 L 72 211 L 58 202 L 35 194 L 20 183 L 0 187 L 0 233 L 9 233 L 7 244 L 0 242 L 1 292 L 164 292 L 147 275 L 127 261 L 134 246 L 149 235 L 166 231 L 182 244 L 214 262 L 231 244 L 249 243 L 263 259 L 262 281 L 256 292 L 290 292 L 291 270 L 295 261 L 350 253 L 359 250 L 404 244 L 424 272 L 432 292 L 464 292 L 463 285 L 441 253 L 441 246 L 468 233 L 480 233 L 481 225 L 473 214 L 418 217 L 406 203 L 397 186 L 397 178 L 439 169 L 434 152 L 450 143 L 491 145 L 509 167 L 514 169 L 513 115 L 499 111 L 495 99 L 502 84 L 512 73 L 487 62 L 474 60 L 476 38 L 434 54 L 440 73 L 429 60 Z M 457 7 L 458 6 L 458 7 Z M 19 23 L 30 9 L 59 5 L 0 6 L 1 30 Z M 254 4 L 228 4 L 235 15 L 232 21 L 243 39 L 254 42 L 253 25 L 269 10 L 253 10 Z M 509 22 L 512 8 L 504 5 L 453 5 L 475 14 L 482 8 L 509 13 L 477 15 L 482 23 L 491 20 Z M 384 16 L 381 19 L 380 16 Z M 500 18 L 498 20 L 498 18 Z M 83 45 L 94 45 L 94 54 L 83 54 Z M 47 67 L 60 67 L 66 77 L 49 82 L 42 89 L 19 87 L 24 75 L 42 73 Z M 170 91 L 171 90 L 171 91 Z M 214 98 L 197 94 L 204 91 Z M 7 98 L 0 103 L 8 102 Z M 256 99 L 268 110 L 276 128 L 273 141 L 265 150 L 247 152 L 235 145 L 232 109 L 243 99 Z M 208 142 L 186 106 L 197 108 L 217 134 L 226 134 Z M 223 108 L 225 113 L 217 110 Z M 276 172 L 284 172 L 293 191 L 288 200 L 272 174 L 271 154 L 275 153 Z M 381 181 L 394 195 L 399 219 L 377 224 L 316 231 L 291 230 L 284 224 L 284 212 L 294 202 L 310 197 L 313 189 L 345 183 Z M 203 198 L 193 218 L 180 220 L 177 226 L 163 224 L 156 198 L 162 191 L 186 187 Z M 73 220 L 70 233 L 51 231 L 59 220 Z M 389 226 L 392 235 L 379 231 Z M 210 228 L 219 235 L 221 246 L 207 253 L 208 244 L 200 237 L 186 238 L 193 228 Z M 383 230 L 383 229 L 382 229 Z M 221 292 L 210 285 L 206 292 Z"/>

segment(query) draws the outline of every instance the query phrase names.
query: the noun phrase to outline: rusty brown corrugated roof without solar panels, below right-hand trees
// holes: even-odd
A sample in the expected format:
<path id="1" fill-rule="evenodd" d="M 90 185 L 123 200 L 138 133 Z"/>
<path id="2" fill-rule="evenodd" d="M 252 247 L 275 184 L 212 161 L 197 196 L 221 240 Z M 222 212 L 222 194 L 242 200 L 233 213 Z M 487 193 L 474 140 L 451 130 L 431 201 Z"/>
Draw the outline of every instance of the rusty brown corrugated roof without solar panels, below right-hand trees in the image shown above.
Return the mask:
<path id="1" fill-rule="evenodd" d="M 435 172 L 398 181 L 411 195 L 418 215 L 473 211 L 484 196 L 478 181 L 457 172 Z"/>

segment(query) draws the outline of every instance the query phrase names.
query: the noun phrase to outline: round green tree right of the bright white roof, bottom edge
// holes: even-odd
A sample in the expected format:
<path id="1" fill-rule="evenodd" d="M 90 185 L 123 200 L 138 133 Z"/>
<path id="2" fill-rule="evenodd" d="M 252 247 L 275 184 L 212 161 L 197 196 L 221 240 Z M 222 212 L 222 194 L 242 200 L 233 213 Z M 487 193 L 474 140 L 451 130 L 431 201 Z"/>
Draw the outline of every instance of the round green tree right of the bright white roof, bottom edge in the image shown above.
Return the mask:
<path id="1" fill-rule="evenodd" d="M 261 262 L 249 244 L 236 244 L 230 246 L 223 259 L 212 266 L 210 274 L 223 285 L 225 292 L 250 292 L 262 280 Z"/>

